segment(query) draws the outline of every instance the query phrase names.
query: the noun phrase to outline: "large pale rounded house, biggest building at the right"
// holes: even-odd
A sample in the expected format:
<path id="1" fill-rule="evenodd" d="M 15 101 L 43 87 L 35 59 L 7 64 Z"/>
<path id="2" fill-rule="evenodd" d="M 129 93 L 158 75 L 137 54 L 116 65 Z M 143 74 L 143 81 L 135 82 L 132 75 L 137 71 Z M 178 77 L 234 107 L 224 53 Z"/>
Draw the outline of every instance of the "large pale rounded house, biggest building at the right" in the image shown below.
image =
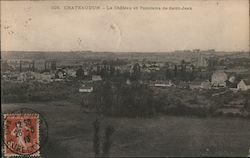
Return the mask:
<path id="1" fill-rule="evenodd" d="M 228 76 L 223 71 L 215 71 L 211 77 L 211 84 L 213 87 L 226 87 L 226 80 Z"/>

